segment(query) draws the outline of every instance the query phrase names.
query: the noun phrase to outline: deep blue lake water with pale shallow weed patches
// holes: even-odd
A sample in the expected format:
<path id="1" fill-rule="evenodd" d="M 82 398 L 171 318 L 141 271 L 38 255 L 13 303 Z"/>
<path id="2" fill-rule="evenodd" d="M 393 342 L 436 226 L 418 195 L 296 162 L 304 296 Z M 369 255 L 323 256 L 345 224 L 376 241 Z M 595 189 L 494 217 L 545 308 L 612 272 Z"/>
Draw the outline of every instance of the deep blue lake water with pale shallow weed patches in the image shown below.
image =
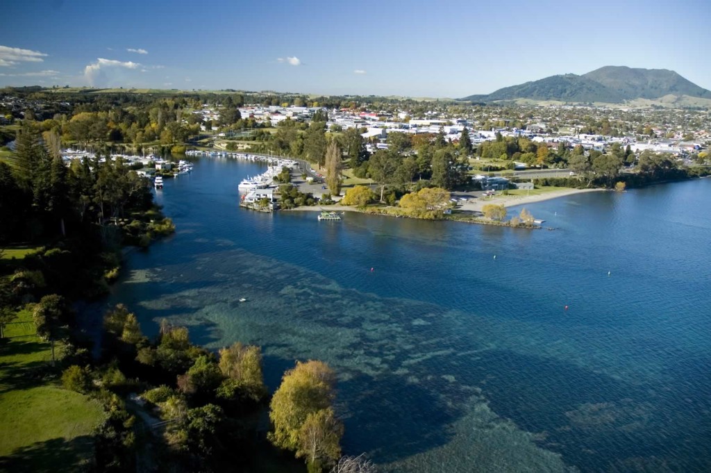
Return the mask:
<path id="1" fill-rule="evenodd" d="M 166 181 L 177 233 L 107 303 L 261 345 L 272 389 L 327 361 L 344 451 L 384 471 L 711 471 L 711 179 L 538 203 L 532 231 L 238 208 L 263 169 Z"/>

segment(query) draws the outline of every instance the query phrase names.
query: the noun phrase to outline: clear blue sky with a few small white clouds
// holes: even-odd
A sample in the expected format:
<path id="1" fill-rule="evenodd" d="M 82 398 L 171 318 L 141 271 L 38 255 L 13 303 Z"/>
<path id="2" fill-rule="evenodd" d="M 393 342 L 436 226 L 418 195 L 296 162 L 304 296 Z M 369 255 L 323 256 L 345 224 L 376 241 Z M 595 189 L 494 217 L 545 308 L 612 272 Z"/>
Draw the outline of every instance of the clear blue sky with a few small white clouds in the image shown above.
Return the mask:
<path id="1" fill-rule="evenodd" d="M 711 4 L 11 0 L 0 85 L 462 97 L 604 65 L 711 89 Z"/>

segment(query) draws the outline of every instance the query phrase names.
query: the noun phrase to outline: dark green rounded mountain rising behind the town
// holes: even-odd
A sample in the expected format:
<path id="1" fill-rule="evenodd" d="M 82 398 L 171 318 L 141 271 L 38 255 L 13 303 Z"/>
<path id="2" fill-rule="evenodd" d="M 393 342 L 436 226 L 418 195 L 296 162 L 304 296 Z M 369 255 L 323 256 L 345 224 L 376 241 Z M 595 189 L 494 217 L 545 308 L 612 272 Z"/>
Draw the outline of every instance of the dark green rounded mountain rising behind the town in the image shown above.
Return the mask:
<path id="1" fill-rule="evenodd" d="M 633 69 L 610 65 L 584 75 L 552 75 L 545 79 L 504 87 L 488 95 L 470 95 L 461 100 L 493 102 L 528 99 L 621 103 L 640 98 L 654 100 L 668 95 L 711 98 L 711 91 L 691 83 L 673 70 Z"/>

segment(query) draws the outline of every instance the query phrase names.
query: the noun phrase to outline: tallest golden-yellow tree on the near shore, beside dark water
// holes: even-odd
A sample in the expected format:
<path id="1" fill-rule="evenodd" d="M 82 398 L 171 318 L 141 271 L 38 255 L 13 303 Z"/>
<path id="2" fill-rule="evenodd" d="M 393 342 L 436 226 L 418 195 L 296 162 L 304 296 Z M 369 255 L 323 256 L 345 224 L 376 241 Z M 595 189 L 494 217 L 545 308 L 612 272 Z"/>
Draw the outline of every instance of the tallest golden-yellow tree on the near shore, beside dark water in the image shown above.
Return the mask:
<path id="1" fill-rule="evenodd" d="M 301 451 L 301 430 L 309 414 L 331 407 L 336 375 L 322 361 L 296 362 L 284 373 L 282 384 L 272 397 L 269 419 L 274 430 L 269 440 L 279 448 Z M 313 422 L 313 421 L 312 421 Z"/>

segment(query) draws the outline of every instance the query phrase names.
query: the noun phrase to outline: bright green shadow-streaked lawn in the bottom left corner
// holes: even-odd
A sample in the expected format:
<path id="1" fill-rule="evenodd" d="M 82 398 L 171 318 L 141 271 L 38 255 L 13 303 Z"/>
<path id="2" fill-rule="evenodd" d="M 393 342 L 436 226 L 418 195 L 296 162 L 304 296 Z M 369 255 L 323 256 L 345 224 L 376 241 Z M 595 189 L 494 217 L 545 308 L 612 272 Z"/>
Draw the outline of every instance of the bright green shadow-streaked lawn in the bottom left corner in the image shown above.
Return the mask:
<path id="1" fill-rule="evenodd" d="M 72 471 L 91 457 L 100 403 L 46 381 L 50 345 L 21 311 L 0 341 L 0 470 Z"/>

